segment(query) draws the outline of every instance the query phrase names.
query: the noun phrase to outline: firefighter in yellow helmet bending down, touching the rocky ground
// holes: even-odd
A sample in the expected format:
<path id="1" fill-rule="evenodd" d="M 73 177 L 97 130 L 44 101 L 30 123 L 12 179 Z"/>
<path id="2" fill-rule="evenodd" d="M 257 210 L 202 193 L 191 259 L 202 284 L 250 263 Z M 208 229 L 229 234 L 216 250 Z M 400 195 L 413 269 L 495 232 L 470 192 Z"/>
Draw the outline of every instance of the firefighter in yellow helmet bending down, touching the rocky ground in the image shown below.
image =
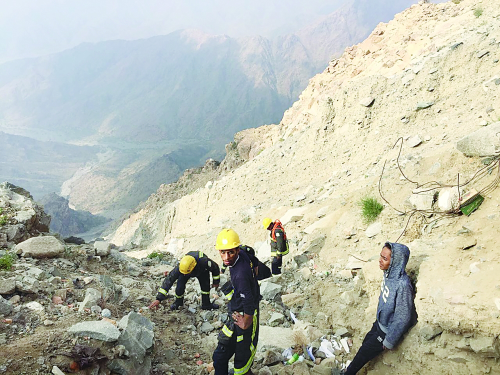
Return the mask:
<path id="1" fill-rule="evenodd" d="M 219 308 L 218 304 L 210 302 L 210 274 L 212 273 L 214 288 L 218 288 L 220 283 L 220 271 L 216 262 L 211 260 L 201 251 L 189 251 L 185 254 L 180 262 L 168 273 L 161 287 L 156 294 L 156 300 L 153 301 L 149 308 L 157 308 L 160 302 L 166 299 L 168 290 L 172 287 L 175 281 L 175 302 L 170 305 L 171 310 L 176 310 L 184 304 L 184 290 L 186 282 L 191 277 L 196 277 L 201 289 L 201 308 L 203 310 L 211 310 Z"/>

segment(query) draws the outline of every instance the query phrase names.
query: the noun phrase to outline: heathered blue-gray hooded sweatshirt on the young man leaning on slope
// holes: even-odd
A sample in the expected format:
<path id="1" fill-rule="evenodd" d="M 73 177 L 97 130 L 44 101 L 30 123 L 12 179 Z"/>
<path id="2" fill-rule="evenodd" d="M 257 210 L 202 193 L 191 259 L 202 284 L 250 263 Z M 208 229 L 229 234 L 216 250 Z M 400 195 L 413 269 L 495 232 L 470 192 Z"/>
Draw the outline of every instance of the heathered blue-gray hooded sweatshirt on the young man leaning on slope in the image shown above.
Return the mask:
<path id="1" fill-rule="evenodd" d="M 383 271 L 376 320 L 385 332 L 383 345 L 392 349 L 402 334 L 416 322 L 413 287 L 405 267 L 409 259 L 409 249 L 401 243 L 387 242 L 390 245 L 389 268 Z"/>

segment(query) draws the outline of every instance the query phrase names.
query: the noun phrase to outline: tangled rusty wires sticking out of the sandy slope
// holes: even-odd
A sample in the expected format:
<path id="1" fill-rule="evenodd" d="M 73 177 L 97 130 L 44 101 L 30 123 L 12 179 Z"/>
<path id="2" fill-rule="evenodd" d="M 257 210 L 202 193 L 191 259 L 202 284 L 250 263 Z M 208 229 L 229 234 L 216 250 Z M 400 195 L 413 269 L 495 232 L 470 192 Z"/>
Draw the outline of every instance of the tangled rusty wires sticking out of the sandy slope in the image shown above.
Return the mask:
<path id="1" fill-rule="evenodd" d="M 496 172 L 495 172 L 496 174 L 495 174 L 495 177 L 494 177 L 493 181 L 490 182 L 490 183 L 488 183 L 486 186 L 484 186 L 480 190 L 478 190 L 478 194 L 488 194 L 491 191 L 493 191 L 496 187 L 498 187 L 498 184 L 500 184 L 500 163 L 499 163 L 499 161 L 500 161 L 500 154 L 492 156 L 490 162 L 487 165 L 485 165 L 484 167 L 478 169 L 474 173 L 474 175 L 468 181 L 463 182 L 463 183 L 460 183 L 460 173 L 458 173 L 458 175 L 457 175 L 456 184 L 455 185 L 446 185 L 446 184 L 439 183 L 437 181 L 429 181 L 429 182 L 425 182 L 425 183 L 422 183 L 422 184 L 420 184 L 417 181 L 412 181 L 408 177 L 406 177 L 406 175 L 404 174 L 404 172 L 401 169 L 401 165 L 399 164 L 399 157 L 401 156 L 401 150 L 402 150 L 402 146 L 403 146 L 403 138 L 402 137 L 400 137 L 399 139 L 396 140 L 396 142 L 392 146 L 392 149 L 394 149 L 394 147 L 396 146 L 396 144 L 399 141 L 400 141 L 399 153 L 397 154 L 397 158 L 396 158 L 397 168 L 399 169 L 399 172 L 401 173 L 401 175 L 404 177 L 405 180 L 407 180 L 408 182 L 411 182 L 411 183 L 415 184 L 416 188 L 419 189 L 418 193 L 429 192 L 429 191 L 436 191 L 437 189 L 440 189 L 440 188 L 443 188 L 443 187 L 455 187 L 456 186 L 457 191 L 458 191 L 458 202 L 460 202 L 461 201 L 460 187 L 463 187 L 463 186 L 466 186 L 468 184 L 472 184 L 473 182 L 479 181 L 481 178 L 484 178 L 486 175 L 491 174 L 492 171 L 493 171 L 493 169 L 496 169 Z M 447 211 L 437 211 L 435 209 L 416 209 L 416 208 L 412 208 L 412 209 L 409 209 L 409 210 L 406 210 L 406 211 L 402 211 L 400 209 L 395 208 L 383 196 L 383 192 L 382 192 L 381 184 L 382 184 L 382 177 L 383 177 L 383 172 L 385 170 L 385 164 L 386 163 L 387 163 L 387 160 L 385 160 L 385 162 L 383 163 L 382 172 L 380 173 L 380 178 L 378 179 L 378 193 L 380 194 L 380 197 L 385 201 L 385 203 L 387 203 L 392 209 L 394 209 L 395 211 L 399 212 L 401 215 L 409 215 L 408 219 L 406 221 L 406 225 L 404 226 L 404 229 L 402 230 L 402 232 L 399 235 L 399 237 L 397 237 L 397 239 L 395 240 L 395 242 L 397 242 L 399 240 L 399 238 L 401 238 L 401 236 L 404 234 L 404 232 L 406 231 L 406 228 L 408 227 L 408 224 L 409 224 L 409 222 L 411 220 L 411 217 L 415 213 L 418 213 L 422 217 L 423 221 L 425 221 L 425 223 L 428 224 L 428 225 L 432 224 L 433 222 L 435 222 L 435 221 L 437 221 L 437 220 L 439 220 L 441 218 L 444 218 L 444 217 L 454 217 L 454 216 L 458 216 L 458 215 L 461 214 L 461 212 L 460 212 L 460 205 L 459 204 L 458 204 L 458 207 L 453 207 L 453 208 L 451 208 L 451 209 L 449 209 Z M 435 218 L 433 218 L 432 220 L 428 221 L 427 217 L 429 217 L 429 216 L 434 216 Z"/>

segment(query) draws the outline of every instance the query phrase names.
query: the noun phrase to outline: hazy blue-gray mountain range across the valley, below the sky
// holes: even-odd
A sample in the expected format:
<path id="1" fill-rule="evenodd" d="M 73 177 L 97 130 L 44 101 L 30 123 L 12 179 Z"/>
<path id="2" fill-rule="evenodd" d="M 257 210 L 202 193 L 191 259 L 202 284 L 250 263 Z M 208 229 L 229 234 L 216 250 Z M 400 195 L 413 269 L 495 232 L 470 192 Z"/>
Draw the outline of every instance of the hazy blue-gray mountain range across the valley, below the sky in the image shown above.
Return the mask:
<path id="1" fill-rule="evenodd" d="M 180 30 L 7 62 L 0 130 L 111 150 L 79 169 L 63 195 L 78 209 L 116 217 L 184 168 L 221 156 L 234 133 L 278 122 L 332 56 L 412 2 L 352 0 L 272 39 Z"/>

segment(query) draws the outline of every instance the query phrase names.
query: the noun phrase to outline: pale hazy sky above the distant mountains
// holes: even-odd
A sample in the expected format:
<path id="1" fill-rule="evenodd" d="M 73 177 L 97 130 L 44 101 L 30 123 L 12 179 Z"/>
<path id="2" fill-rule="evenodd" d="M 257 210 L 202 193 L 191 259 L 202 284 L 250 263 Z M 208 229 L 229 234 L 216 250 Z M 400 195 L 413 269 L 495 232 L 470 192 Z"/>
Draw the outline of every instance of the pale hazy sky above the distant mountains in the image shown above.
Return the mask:
<path id="1" fill-rule="evenodd" d="M 0 0 L 0 61 L 180 28 L 269 36 L 296 30 L 346 1 Z"/>

